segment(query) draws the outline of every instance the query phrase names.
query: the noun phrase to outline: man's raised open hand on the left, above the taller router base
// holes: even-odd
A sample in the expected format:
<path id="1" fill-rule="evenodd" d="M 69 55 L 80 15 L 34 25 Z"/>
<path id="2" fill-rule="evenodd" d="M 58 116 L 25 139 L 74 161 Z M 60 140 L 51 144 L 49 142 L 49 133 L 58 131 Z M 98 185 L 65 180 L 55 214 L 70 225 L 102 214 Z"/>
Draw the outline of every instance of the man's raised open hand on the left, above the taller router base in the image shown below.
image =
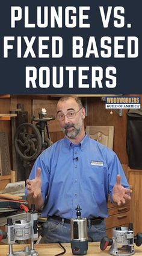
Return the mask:
<path id="1" fill-rule="evenodd" d="M 32 194 L 33 198 L 37 198 L 41 195 L 42 188 L 42 178 L 41 178 L 41 168 L 37 168 L 37 176 L 35 179 L 27 179 L 26 180 L 26 188 L 28 189 L 28 193 Z"/>

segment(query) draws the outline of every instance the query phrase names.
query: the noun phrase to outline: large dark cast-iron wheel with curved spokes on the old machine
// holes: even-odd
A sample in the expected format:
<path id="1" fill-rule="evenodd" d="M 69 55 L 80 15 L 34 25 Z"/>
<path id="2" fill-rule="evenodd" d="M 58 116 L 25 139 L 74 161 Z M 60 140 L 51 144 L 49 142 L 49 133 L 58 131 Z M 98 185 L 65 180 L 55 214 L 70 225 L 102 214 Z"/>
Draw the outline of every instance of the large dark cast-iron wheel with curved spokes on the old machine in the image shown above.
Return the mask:
<path id="1" fill-rule="evenodd" d="M 14 135 L 14 146 L 23 160 L 36 159 L 42 151 L 42 137 L 39 129 L 31 123 L 20 124 Z"/>

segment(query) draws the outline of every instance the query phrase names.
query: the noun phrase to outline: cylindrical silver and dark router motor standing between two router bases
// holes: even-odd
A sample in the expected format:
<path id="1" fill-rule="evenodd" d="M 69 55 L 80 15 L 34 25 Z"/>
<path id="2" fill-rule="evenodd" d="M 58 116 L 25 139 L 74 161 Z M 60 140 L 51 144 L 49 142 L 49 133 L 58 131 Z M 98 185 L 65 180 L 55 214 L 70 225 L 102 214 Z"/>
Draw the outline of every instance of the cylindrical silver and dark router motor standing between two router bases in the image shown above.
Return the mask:
<path id="1" fill-rule="evenodd" d="M 79 205 L 76 208 L 76 216 L 76 219 L 70 220 L 72 253 L 84 255 L 87 254 L 88 250 L 87 219 L 81 218 Z"/>

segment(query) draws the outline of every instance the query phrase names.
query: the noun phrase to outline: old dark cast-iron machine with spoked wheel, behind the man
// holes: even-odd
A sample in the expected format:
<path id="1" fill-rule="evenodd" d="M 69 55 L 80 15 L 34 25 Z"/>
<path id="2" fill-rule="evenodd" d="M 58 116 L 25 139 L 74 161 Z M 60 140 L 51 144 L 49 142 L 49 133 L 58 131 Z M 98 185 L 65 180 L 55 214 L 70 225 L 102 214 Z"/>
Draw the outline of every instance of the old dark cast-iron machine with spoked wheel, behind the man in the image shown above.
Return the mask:
<path id="1" fill-rule="evenodd" d="M 51 146 L 51 136 L 48 129 L 48 122 L 54 120 L 47 116 L 47 110 L 42 108 L 39 118 L 32 117 L 32 123 L 22 123 L 17 127 L 14 135 L 14 146 L 17 156 L 22 161 L 22 168 L 25 169 L 25 180 L 28 179 L 32 165 L 40 153 Z M 45 136 L 47 133 L 48 138 Z"/>

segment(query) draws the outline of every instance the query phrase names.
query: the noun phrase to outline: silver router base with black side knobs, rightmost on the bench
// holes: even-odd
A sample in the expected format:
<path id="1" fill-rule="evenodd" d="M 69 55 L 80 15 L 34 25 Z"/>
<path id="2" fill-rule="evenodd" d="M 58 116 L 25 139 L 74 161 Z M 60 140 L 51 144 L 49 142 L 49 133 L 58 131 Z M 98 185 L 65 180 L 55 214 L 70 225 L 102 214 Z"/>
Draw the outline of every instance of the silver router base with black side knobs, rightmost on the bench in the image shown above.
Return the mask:
<path id="1" fill-rule="evenodd" d="M 111 255 L 129 256 L 135 254 L 134 243 L 140 246 L 142 243 L 142 233 L 134 237 L 133 225 L 129 223 L 128 228 L 121 226 L 113 228 L 113 238 L 103 237 L 100 241 L 100 249 L 104 251 L 111 245 Z"/>

